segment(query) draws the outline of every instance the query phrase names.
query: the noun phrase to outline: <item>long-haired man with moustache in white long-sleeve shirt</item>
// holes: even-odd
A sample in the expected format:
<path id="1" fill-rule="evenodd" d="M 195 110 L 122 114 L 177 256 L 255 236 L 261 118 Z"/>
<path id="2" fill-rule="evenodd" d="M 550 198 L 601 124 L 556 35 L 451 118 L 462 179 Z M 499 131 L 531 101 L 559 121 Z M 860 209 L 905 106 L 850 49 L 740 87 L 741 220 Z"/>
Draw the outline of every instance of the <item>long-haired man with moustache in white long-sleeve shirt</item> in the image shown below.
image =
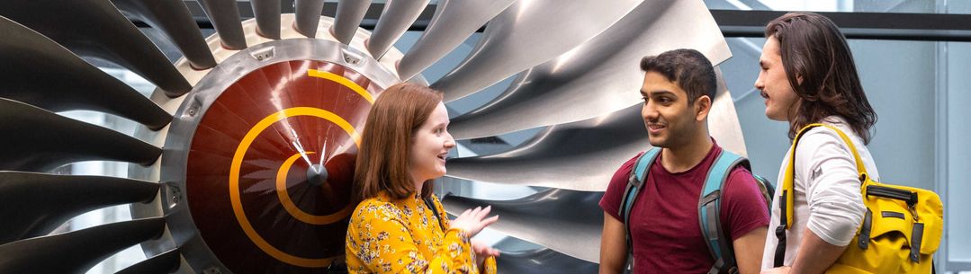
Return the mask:
<path id="1" fill-rule="evenodd" d="M 869 175 L 879 180 L 864 144 L 877 114 L 867 102 L 853 54 L 831 20 L 812 13 L 789 13 L 765 27 L 761 71 L 755 88 L 765 99 L 769 119 L 787 121 L 791 139 L 809 124 L 822 123 L 846 133 Z M 794 150 L 794 151 L 792 151 Z M 782 187 L 777 188 L 772 223 L 762 257 L 763 273 L 822 273 L 853 240 L 866 208 L 859 192 L 853 153 L 834 131 L 818 127 L 805 133 L 787 153 L 779 172 L 786 176 L 794 159 L 792 225 L 781 228 Z"/>

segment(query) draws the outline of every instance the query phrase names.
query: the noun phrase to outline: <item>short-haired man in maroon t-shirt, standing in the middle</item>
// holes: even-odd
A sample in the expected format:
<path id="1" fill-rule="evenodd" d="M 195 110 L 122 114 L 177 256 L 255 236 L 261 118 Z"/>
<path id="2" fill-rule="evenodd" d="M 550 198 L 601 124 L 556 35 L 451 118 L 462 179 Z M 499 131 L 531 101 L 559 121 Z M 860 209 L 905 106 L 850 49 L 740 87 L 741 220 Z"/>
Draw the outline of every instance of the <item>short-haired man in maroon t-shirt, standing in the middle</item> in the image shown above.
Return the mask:
<path id="1" fill-rule="evenodd" d="M 630 211 L 634 273 L 707 273 L 715 260 L 702 238 L 698 197 L 721 147 L 708 134 L 717 82 L 710 61 L 693 49 L 641 60 L 646 72 L 641 115 L 661 152 Z M 624 163 L 600 200 L 604 228 L 600 273 L 621 273 L 627 258 L 620 199 L 639 156 Z M 731 239 L 738 269 L 758 273 L 769 213 L 752 173 L 732 169 L 721 193 L 720 223 Z"/>

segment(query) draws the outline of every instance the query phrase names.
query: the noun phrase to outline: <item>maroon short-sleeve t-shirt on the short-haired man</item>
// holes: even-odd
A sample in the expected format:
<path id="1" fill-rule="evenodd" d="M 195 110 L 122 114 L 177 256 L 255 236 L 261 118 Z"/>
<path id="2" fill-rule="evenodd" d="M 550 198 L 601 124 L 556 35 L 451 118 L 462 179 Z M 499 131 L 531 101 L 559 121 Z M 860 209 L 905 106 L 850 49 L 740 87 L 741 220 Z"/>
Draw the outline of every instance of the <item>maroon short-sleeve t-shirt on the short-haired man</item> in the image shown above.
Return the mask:
<path id="1" fill-rule="evenodd" d="M 671 173 L 658 154 L 630 212 L 634 273 L 705 273 L 715 261 L 698 224 L 698 197 L 721 147 L 716 143 L 695 167 Z M 622 222 L 620 198 L 636 156 L 614 173 L 600 207 Z M 752 173 L 735 167 L 722 186 L 721 224 L 732 240 L 769 225 L 769 212 Z M 759 247 L 761 248 L 761 247 Z"/>

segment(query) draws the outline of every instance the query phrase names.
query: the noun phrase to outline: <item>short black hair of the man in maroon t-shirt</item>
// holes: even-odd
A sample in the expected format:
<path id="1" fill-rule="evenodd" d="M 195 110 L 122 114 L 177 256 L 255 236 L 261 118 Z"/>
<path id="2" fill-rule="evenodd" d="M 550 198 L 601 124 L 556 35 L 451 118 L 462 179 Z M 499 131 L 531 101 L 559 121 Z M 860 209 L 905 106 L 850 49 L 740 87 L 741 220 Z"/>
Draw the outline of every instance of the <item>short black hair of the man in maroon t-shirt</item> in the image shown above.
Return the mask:
<path id="1" fill-rule="evenodd" d="M 712 62 L 694 49 L 674 49 L 641 59 L 641 70 L 654 72 L 675 82 L 687 93 L 687 103 L 708 95 L 712 101 L 718 90 L 718 79 Z"/>

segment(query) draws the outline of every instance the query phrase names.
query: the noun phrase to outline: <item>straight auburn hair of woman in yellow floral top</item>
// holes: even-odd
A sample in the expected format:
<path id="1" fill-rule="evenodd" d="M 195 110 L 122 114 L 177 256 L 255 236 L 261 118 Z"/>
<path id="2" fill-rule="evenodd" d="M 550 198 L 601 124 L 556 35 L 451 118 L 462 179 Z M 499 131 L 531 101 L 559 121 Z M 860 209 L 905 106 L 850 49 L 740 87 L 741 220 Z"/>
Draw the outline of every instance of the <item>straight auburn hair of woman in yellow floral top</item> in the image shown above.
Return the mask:
<path id="1" fill-rule="evenodd" d="M 412 137 L 442 98 L 441 92 L 409 82 L 392 85 L 378 96 L 368 112 L 354 163 L 354 202 L 382 191 L 396 199 L 416 192 L 409 172 Z M 431 197 L 433 183 L 424 182 L 422 198 Z"/>

